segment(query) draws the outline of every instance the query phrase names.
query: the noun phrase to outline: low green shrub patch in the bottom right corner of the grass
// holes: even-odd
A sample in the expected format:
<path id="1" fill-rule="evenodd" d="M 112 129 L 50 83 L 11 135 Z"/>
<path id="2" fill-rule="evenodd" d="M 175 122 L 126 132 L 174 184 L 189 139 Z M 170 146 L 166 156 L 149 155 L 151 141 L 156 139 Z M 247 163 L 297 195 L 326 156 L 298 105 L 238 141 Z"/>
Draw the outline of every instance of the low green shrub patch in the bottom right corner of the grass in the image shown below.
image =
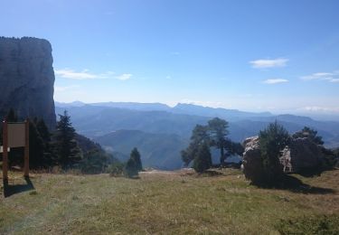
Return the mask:
<path id="1" fill-rule="evenodd" d="M 311 215 L 278 221 L 276 229 L 280 234 L 339 234 L 339 216 Z"/>

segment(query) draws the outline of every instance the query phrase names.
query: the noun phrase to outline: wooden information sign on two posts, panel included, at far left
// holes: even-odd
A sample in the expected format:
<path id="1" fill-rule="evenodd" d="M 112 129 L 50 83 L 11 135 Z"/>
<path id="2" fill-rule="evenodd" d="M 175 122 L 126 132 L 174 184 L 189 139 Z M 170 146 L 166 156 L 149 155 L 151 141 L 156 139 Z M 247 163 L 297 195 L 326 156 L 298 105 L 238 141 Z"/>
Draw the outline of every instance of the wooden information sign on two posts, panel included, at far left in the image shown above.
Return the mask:
<path id="1" fill-rule="evenodd" d="M 24 146 L 24 176 L 29 176 L 29 127 L 30 122 L 3 122 L 3 179 L 8 180 L 8 148 Z"/>

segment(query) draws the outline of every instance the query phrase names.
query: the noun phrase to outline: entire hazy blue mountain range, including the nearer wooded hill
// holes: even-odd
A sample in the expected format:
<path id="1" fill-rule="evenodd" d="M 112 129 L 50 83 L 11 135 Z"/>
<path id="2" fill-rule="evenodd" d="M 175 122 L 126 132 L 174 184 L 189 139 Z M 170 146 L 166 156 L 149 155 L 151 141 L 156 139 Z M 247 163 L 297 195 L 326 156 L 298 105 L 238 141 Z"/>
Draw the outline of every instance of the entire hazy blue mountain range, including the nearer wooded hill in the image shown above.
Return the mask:
<path id="1" fill-rule="evenodd" d="M 236 109 L 207 108 L 178 104 L 174 108 L 160 103 L 107 102 L 85 104 L 55 103 L 56 114 L 68 110 L 77 131 L 99 142 L 101 146 L 124 160 L 137 146 L 143 164 L 161 169 L 182 165 L 180 150 L 189 143 L 193 127 L 211 118 L 224 118 L 230 123 L 230 138 L 242 142 L 259 134 L 268 123 L 278 120 L 290 133 L 307 126 L 323 136 L 326 146 L 339 146 L 339 122 L 316 121 L 312 118 L 251 113 Z"/>

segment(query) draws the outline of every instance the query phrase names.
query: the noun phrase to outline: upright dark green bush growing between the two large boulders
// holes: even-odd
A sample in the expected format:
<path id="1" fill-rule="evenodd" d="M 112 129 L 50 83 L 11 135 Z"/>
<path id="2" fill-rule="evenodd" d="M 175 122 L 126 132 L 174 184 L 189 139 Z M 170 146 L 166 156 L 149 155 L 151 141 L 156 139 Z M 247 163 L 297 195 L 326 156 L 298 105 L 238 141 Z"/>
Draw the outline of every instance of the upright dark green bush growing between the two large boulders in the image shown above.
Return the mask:
<path id="1" fill-rule="evenodd" d="M 283 175 L 279 162 L 280 151 L 288 145 L 289 135 L 287 130 L 278 122 L 268 125 L 265 130 L 259 132 L 260 154 L 263 166 L 261 183 L 274 185 Z"/>

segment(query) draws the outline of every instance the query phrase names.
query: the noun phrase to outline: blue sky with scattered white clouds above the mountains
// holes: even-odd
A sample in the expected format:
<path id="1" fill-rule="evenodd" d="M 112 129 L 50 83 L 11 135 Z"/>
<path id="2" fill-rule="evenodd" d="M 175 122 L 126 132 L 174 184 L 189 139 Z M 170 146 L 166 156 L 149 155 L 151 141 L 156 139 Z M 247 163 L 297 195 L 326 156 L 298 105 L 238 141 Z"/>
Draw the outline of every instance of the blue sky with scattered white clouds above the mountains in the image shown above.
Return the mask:
<path id="1" fill-rule="evenodd" d="M 339 1 L 0 0 L 52 43 L 54 99 L 339 115 Z"/>

